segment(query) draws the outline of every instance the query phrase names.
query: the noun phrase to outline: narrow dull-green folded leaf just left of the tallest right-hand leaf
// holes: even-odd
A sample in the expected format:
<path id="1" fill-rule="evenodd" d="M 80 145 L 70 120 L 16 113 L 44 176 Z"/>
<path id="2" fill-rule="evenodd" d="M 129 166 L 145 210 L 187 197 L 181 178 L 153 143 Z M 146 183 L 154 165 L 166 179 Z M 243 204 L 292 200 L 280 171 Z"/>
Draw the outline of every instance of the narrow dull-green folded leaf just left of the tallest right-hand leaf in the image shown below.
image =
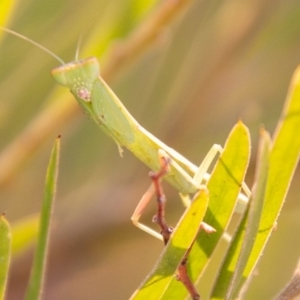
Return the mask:
<path id="1" fill-rule="evenodd" d="M 261 130 L 254 181 L 256 187 L 252 193 L 250 209 L 244 215 L 232 239 L 224 263 L 215 281 L 211 299 L 224 299 L 225 295 L 226 299 L 232 299 L 239 288 L 242 274 L 248 263 L 258 232 L 258 224 L 265 197 L 270 152 L 271 138 L 266 131 Z"/>

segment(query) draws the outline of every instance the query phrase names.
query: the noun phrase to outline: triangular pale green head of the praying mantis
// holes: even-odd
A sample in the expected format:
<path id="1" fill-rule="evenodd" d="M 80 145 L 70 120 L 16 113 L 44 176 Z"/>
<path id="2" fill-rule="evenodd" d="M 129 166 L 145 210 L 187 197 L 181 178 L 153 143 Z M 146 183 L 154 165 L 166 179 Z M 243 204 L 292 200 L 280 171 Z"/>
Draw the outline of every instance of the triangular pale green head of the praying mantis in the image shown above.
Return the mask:
<path id="1" fill-rule="evenodd" d="M 85 102 L 91 101 L 91 90 L 100 67 L 95 57 L 71 62 L 52 70 L 54 79 Z"/>

